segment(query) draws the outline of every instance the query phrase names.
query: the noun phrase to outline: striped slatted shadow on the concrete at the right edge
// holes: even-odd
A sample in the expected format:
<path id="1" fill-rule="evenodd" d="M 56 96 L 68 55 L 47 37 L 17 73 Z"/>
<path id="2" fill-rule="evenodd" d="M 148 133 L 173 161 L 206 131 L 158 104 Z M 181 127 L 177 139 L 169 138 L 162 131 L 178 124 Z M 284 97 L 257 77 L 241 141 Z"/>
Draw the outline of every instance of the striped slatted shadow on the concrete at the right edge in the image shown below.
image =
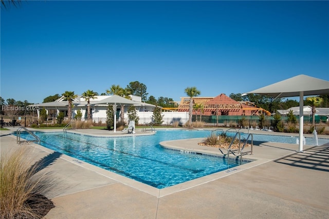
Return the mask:
<path id="1" fill-rule="evenodd" d="M 315 146 L 304 152 L 275 160 L 285 165 L 329 172 L 329 145 Z"/>

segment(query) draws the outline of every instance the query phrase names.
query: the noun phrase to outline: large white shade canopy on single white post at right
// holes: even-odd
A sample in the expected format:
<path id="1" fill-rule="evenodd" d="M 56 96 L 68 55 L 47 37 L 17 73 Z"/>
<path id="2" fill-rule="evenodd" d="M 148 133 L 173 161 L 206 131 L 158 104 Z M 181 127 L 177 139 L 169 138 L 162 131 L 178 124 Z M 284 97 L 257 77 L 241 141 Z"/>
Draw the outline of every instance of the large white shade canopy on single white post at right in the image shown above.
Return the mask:
<path id="1" fill-rule="evenodd" d="M 293 78 L 289 78 L 259 89 L 246 92 L 247 94 L 261 94 L 274 98 L 283 97 L 298 97 L 299 96 L 299 151 L 303 152 L 303 130 L 304 130 L 304 118 L 303 118 L 303 106 L 304 95 L 329 95 L 329 81 L 309 77 L 306 75 L 298 75 Z"/>

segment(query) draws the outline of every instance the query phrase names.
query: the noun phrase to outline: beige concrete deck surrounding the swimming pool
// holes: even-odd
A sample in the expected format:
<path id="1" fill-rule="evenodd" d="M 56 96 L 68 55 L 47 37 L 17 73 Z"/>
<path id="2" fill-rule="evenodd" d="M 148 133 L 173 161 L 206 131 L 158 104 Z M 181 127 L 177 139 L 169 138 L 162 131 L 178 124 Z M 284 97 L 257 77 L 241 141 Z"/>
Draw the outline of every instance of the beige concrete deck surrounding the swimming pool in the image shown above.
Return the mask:
<path id="1" fill-rule="evenodd" d="M 58 179 L 50 195 L 56 207 L 45 218 L 329 218 L 329 144 L 304 145 L 304 153 L 297 153 L 297 144 L 255 142 L 253 155 L 244 156 L 253 162 L 160 190 L 38 144 L 17 145 L 10 135 L 13 131 L 1 131 L 1 153 L 28 147 L 35 161 L 48 160 L 43 171 Z M 143 133 L 137 129 L 136 134 Z M 198 145 L 199 141 L 161 144 L 221 155 L 216 148 Z"/>

